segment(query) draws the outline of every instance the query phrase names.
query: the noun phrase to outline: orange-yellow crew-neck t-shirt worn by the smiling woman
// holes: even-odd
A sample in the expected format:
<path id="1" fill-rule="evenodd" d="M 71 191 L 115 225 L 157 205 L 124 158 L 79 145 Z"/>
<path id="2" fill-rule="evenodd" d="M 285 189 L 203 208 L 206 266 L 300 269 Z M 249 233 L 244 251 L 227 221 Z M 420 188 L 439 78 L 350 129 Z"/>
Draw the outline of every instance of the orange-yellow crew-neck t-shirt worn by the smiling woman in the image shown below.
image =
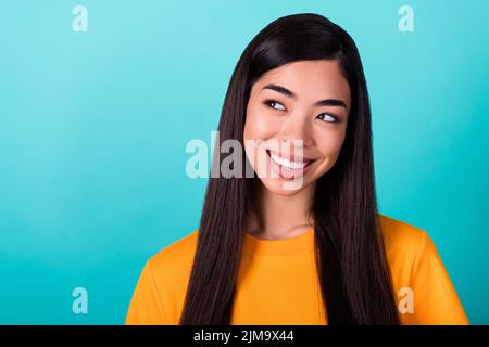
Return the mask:
<path id="1" fill-rule="evenodd" d="M 428 234 L 380 215 L 403 324 L 468 324 Z M 198 229 L 151 257 L 134 292 L 126 324 L 177 325 Z M 326 324 L 314 260 L 314 229 L 286 240 L 244 234 L 231 324 Z"/>

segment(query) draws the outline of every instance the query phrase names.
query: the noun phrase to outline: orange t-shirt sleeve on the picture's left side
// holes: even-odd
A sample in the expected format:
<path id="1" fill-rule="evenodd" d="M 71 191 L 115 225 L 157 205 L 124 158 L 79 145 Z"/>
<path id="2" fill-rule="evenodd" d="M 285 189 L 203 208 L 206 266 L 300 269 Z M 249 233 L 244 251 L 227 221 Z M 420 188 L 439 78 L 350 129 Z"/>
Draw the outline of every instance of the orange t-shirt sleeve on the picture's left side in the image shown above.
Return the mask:
<path id="1" fill-rule="evenodd" d="M 126 325 L 166 325 L 167 320 L 154 282 L 151 259 L 139 277 L 126 316 Z"/>

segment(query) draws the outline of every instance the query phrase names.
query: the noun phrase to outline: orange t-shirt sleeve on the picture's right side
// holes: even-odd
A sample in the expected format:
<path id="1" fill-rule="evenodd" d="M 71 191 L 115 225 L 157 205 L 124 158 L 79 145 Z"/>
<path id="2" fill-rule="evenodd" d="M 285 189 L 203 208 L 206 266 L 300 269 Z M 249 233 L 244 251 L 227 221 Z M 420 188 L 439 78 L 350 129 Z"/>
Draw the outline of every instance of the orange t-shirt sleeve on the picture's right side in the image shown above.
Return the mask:
<path id="1" fill-rule="evenodd" d="M 414 314 L 408 324 L 465 325 L 468 319 L 452 281 L 426 231 L 422 232 L 412 271 Z"/>

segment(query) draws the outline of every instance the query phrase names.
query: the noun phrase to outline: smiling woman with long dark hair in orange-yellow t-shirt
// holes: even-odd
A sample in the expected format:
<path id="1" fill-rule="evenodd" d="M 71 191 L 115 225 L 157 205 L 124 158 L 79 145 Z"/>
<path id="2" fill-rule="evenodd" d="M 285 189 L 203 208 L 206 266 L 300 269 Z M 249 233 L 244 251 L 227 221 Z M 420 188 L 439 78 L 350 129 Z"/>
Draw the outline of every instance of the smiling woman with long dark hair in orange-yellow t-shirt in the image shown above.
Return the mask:
<path id="1" fill-rule="evenodd" d="M 377 211 L 365 77 L 338 25 L 266 26 L 218 131 L 242 175 L 210 178 L 199 229 L 147 262 L 126 324 L 468 323 L 427 233 Z"/>

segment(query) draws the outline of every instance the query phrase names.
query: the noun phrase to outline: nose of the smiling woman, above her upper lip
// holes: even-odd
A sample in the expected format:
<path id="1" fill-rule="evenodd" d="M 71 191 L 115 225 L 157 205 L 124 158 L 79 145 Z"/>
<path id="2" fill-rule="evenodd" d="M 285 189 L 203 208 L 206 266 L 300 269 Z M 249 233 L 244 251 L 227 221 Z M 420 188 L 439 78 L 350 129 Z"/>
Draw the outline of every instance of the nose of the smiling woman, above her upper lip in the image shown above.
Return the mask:
<path id="1" fill-rule="evenodd" d="M 311 146 L 313 133 L 310 117 L 305 113 L 290 114 L 281 124 L 279 141 L 294 146 Z"/>

